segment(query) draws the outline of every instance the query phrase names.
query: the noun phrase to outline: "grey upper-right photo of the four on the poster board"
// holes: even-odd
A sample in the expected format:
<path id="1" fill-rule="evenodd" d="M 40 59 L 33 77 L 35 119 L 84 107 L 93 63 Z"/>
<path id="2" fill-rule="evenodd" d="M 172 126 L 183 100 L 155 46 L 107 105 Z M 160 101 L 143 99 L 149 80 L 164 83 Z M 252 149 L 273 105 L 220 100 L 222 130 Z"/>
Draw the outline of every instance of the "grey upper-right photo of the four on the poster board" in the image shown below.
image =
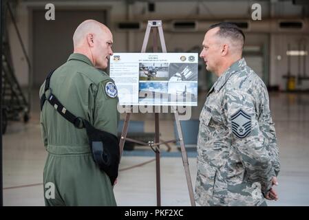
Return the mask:
<path id="1" fill-rule="evenodd" d="M 169 81 L 197 81 L 198 65 L 195 63 L 170 63 L 169 64 Z"/>

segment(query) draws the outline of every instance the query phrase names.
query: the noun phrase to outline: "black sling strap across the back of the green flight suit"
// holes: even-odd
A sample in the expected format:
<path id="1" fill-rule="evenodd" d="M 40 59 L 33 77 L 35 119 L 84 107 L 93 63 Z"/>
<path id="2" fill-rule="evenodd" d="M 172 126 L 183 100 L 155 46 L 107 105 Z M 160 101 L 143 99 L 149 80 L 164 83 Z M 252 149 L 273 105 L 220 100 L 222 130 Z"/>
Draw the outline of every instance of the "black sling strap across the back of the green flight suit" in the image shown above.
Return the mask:
<path id="1" fill-rule="evenodd" d="M 65 118 L 66 120 L 74 124 L 76 128 L 83 129 L 85 127 L 83 118 L 76 117 L 70 111 L 65 109 L 65 107 L 63 106 L 63 104 L 61 104 L 58 98 L 56 98 L 56 96 L 52 94 L 52 91 L 50 92 L 50 96 L 47 99 L 45 92 L 48 89 L 50 89 L 50 78 L 52 77 L 53 72 L 54 70 L 50 72 L 50 74 L 48 74 L 46 81 L 45 81 L 44 94 L 41 96 L 41 111 L 43 109 L 45 100 L 47 100 L 48 102 L 50 102 L 50 104 L 52 104 L 52 106 L 56 109 L 56 111 L 58 111 L 58 113 L 60 113 L 63 116 L 63 118 Z"/>

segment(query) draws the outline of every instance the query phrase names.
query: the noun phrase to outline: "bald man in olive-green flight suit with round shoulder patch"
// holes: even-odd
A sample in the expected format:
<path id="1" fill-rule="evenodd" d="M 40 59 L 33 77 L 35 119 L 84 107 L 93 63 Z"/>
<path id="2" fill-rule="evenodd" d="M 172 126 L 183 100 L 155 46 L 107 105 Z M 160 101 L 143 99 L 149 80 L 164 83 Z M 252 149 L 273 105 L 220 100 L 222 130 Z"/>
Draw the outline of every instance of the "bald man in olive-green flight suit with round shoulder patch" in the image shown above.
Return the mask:
<path id="1" fill-rule="evenodd" d="M 102 23 L 87 20 L 76 28 L 73 42 L 74 53 L 52 74 L 52 94 L 96 129 L 117 135 L 117 89 L 102 70 L 113 54 L 113 36 Z M 45 83 L 40 97 L 44 87 Z M 92 157 L 86 129 L 76 129 L 48 102 L 40 124 L 48 152 L 43 173 L 45 205 L 116 206 L 109 177 Z"/>

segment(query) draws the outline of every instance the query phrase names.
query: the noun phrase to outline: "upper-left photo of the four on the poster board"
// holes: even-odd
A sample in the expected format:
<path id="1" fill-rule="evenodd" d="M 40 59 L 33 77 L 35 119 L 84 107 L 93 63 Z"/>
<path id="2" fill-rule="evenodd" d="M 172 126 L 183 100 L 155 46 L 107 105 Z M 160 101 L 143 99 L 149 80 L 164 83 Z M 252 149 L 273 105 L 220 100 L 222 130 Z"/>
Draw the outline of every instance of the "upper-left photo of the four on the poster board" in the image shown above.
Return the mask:
<path id="1" fill-rule="evenodd" d="M 139 80 L 169 80 L 169 63 L 140 63 Z"/>

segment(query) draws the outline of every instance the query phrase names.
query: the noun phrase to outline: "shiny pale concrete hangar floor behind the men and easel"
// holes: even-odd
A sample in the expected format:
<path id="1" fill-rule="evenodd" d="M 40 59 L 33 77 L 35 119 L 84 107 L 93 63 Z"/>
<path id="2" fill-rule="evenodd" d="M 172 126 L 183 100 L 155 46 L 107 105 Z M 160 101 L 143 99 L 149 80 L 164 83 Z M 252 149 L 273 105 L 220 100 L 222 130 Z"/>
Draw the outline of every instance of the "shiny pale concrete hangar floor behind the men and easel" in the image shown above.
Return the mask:
<path id="1" fill-rule="evenodd" d="M 36 97 L 35 95 L 34 97 Z M 201 96 L 200 96 L 201 97 Z M 201 98 L 204 98 L 202 96 Z M 43 206 L 43 166 L 46 152 L 39 128 L 38 99 L 34 98 L 28 124 L 10 122 L 3 136 L 3 203 L 5 206 Z M 199 100 L 199 103 L 204 100 Z M 269 206 L 309 205 L 309 94 L 270 94 L 277 131 L 281 173 L 279 201 Z M 198 118 L 200 107 L 193 109 Z M 132 115 L 132 119 L 140 115 Z M 153 131 L 153 116 L 145 115 L 145 130 Z M 173 139 L 173 118 L 162 115 L 163 140 Z M 164 146 L 161 147 L 164 151 Z M 144 147 L 140 148 L 141 150 Z M 177 151 L 172 146 L 172 151 Z M 154 157 L 124 156 L 118 184 L 114 187 L 118 206 L 156 206 L 156 164 Z M 141 165 L 145 163 L 144 165 Z M 189 158 L 193 187 L 196 159 Z M 140 166 L 136 166 L 140 165 Z M 161 157 L 162 206 L 190 206 L 181 157 Z M 129 168 L 129 169 L 126 169 Z"/>

